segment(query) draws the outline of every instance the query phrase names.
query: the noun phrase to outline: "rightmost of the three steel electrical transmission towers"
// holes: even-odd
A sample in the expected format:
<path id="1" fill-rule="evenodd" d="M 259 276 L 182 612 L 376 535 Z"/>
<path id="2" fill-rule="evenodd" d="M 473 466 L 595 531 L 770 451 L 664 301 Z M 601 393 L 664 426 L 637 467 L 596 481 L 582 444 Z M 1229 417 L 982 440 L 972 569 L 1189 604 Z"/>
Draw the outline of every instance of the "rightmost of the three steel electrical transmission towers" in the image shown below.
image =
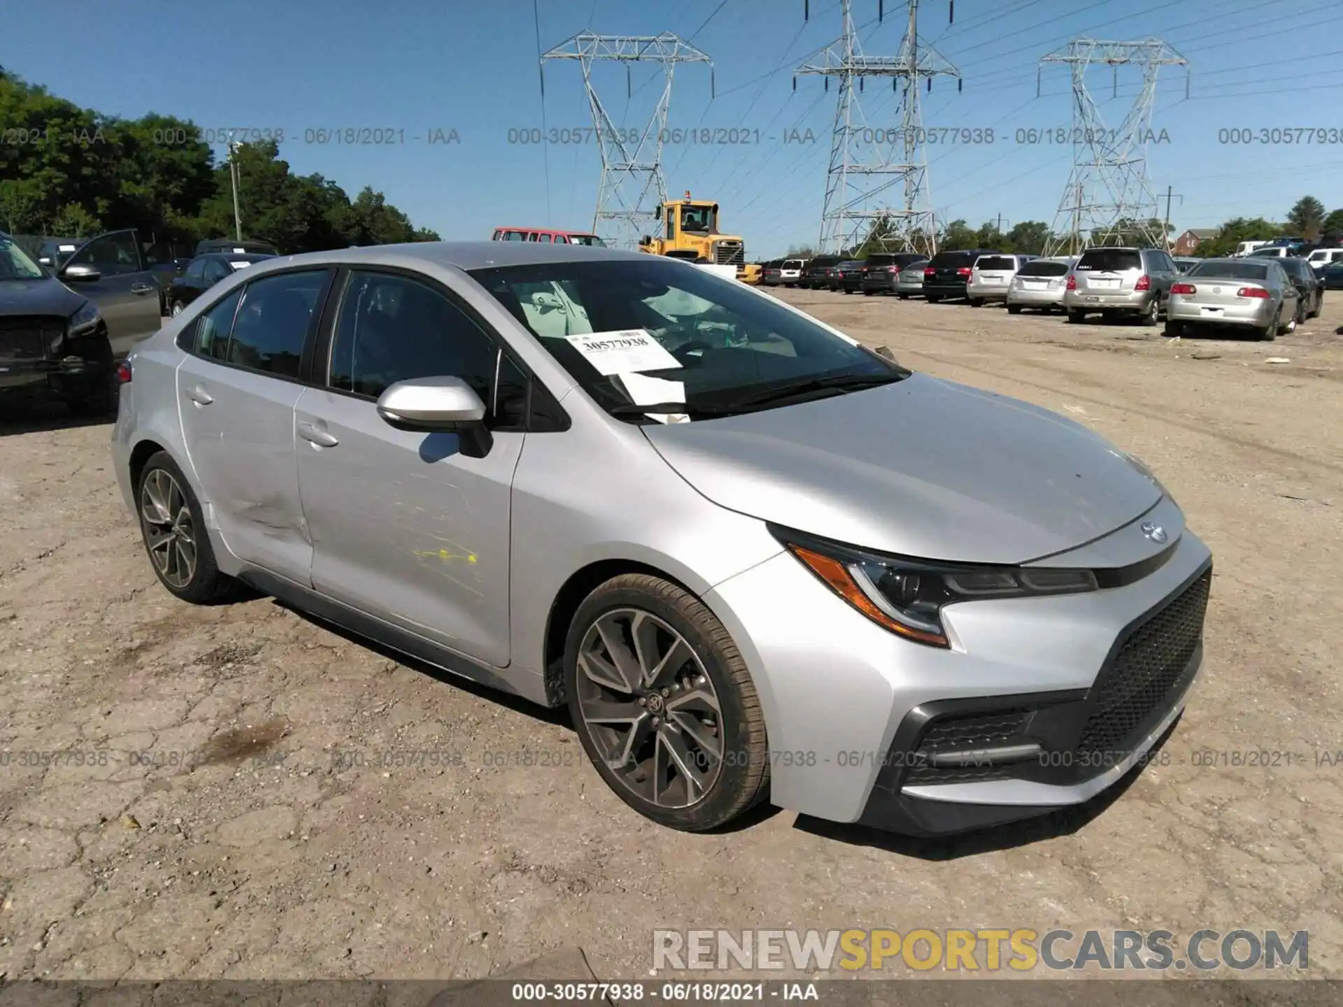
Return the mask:
<path id="1" fill-rule="evenodd" d="M 1046 255 L 1066 250 L 1078 254 L 1093 244 L 1144 243 L 1164 248 L 1152 222 L 1156 195 L 1147 180 L 1147 144 L 1152 138 L 1156 105 L 1156 74 L 1163 66 L 1189 66 L 1189 60 L 1160 39 L 1097 42 L 1074 39 L 1041 60 L 1066 63 L 1073 78 L 1073 169 L 1058 201 Z M 1111 67 L 1111 94 L 1119 97 L 1119 68 L 1136 66 L 1143 87 L 1117 128 L 1107 128 L 1100 107 L 1086 87 L 1088 70 Z M 1186 71 L 1186 97 L 1189 77 Z M 1037 94 L 1039 86 L 1037 81 Z"/>

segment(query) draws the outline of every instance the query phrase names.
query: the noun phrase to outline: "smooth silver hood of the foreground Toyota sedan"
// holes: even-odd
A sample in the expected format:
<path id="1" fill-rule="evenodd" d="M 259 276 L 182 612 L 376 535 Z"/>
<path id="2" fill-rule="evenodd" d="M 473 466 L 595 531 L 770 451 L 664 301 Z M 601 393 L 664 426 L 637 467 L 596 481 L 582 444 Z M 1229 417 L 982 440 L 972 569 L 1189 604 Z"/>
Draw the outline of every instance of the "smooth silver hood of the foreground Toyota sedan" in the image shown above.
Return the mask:
<path id="1" fill-rule="evenodd" d="M 720 506 L 912 557 L 1029 563 L 1093 541 L 1163 495 L 1080 423 L 927 375 L 643 430 Z"/>

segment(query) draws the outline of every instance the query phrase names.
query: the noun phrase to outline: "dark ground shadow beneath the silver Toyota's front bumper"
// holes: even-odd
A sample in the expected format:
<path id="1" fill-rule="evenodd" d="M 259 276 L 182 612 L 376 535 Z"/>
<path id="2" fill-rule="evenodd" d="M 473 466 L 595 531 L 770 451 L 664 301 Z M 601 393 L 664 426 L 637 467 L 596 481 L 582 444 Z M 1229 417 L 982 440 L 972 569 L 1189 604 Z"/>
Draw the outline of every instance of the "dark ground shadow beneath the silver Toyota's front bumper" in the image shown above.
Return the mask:
<path id="1" fill-rule="evenodd" d="M 1175 722 L 1158 738 L 1156 744 L 1148 752 L 1146 761 L 1159 763 L 1162 748 L 1164 748 L 1182 718 L 1183 714 L 1176 717 Z M 1107 787 L 1095 798 L 1081 804 L 1061 808 L 1048 815 L 1038 815 L 994 828 L 980 828 L 958 835 L 931 838 L 897 835 L 866 826 L 826 822 L 810 815 L 798 815 L 792 827 L 825 839 L 834 839 L 851 846 L 870 846 L 901 857 L 912 857 L 921 861 L 959 861 L 962 857 L 978 857 L 984 853 L 1011 850 L 1018 846 L 1029 846 L 1045 839 L 1057 839 L 1081 831 L 1082 827 L 1091 824 L 1111 804 L 1124 796 L 1128 788 L 1133 785 L 1133 781 L 1142 776 L 1143 768 L 1143 764 L 1135 765 L 1113 785 Z"/>

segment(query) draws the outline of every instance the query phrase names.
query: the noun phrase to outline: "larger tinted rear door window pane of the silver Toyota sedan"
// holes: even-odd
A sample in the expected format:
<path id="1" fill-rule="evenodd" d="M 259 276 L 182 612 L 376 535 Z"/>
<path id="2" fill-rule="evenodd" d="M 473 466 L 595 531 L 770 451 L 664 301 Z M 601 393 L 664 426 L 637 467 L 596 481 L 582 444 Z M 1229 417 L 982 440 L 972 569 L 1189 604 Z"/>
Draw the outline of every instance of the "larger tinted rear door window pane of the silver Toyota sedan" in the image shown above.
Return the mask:
<path id="1" fill-rule="evenodd" d="M 298 377 L 326 270 L 262 277 L 243 289 L 228 340 L 228 363 L 250 371 Z"/>

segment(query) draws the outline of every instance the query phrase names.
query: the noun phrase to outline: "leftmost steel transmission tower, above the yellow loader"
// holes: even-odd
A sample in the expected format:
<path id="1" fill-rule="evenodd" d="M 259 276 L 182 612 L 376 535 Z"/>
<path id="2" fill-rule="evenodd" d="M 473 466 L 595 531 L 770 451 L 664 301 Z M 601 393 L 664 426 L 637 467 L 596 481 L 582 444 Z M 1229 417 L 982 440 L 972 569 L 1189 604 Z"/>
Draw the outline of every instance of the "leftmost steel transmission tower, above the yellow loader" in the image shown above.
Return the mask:
<path id="1" fill-rule="evenodd" d="M 685 39 L 661 35 L 594 35 L 579 32 L 541 54 L 541 97 L 545 97 L 544 66 L 547 59 L 576 59 L 583 70 L 596 146 L 602 156 L 602 181 L 596 192 L 592 230 L 610 244 L 634 247 L 639 238 L 658 227 L 659 204 L 666 201 L 667 185 L 662 176 L 662 142 L 666 140 L 667 109 L 672 105 L 672 77 L 677 63 L 708 63 L 710 97 L 713 60 Z M 630 67 L 634 63 L 661 63 L 662 97 L 642 132 L 618 126 L 598 98 L 592 83 L 592 64 L 614 60 L 624 64 L 626 95 L 633 94 Z M 543 141 L 547 137 L 541 137 Z"/>

